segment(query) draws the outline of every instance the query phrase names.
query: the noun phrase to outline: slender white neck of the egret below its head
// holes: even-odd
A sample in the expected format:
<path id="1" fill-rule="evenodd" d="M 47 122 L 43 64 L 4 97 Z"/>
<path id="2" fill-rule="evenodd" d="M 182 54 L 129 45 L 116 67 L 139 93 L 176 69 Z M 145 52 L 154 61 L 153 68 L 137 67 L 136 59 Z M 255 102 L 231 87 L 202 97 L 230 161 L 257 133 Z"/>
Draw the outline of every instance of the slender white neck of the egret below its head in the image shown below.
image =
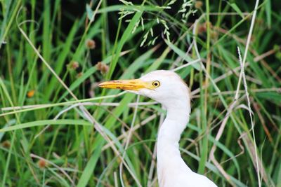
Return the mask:
<path id="1" fill-rule="evenodd" d="M 159 186 L 163 186 L 165 176 L 171 172 L 185 170 L 192 172 L 181 158 L 178 141 L 185 129 L 190 115 L 189 98 L 186 101 L 174 102 L 167 107 L 167 116 L 159 129 L 157 138 L 157 174 Z"/>

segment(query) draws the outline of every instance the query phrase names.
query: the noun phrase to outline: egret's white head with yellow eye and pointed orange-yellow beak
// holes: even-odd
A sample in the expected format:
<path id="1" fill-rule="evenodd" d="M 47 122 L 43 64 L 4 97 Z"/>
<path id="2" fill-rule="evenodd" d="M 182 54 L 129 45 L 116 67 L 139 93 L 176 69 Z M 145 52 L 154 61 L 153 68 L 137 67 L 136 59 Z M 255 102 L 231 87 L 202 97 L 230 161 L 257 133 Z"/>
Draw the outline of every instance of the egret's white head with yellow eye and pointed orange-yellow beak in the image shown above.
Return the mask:
<path id="1" fill-rule="evenodd" d="M 101 88 L 122 89 L 154 99 L 169 107 L 177 102 L 189 102 L 188 86 L 174 71 L 152 71 L 138 79 L 106 81 Z"/>

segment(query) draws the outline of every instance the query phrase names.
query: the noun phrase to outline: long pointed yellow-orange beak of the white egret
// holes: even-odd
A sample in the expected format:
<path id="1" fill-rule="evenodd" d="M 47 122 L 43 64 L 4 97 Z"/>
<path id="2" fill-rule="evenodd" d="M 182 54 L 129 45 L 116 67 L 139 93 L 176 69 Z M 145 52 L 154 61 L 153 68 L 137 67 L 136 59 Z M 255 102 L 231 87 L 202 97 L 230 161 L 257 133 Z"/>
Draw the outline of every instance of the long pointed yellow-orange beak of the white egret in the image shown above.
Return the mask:
<path id="1" fill-rule="evenodd" d="M 106 81 L 100 83 L 98 86 L 101 88 L 133 90 L 133 91 L 138 91 L 143 88 L 148 88 L 150 90 L 154 89 L 152 83 L 142 81 L 141 79 Z"/>

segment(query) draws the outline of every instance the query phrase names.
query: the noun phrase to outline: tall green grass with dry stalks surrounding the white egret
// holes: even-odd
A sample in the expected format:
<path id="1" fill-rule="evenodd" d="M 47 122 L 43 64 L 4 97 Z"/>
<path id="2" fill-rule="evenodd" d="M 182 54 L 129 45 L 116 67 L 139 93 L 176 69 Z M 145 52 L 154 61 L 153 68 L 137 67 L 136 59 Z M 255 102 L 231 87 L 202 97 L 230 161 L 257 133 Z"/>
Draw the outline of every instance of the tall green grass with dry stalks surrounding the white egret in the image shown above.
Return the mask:
<path id="1" fill-rule="evenodd" d="M 279 2 L 253 16 L 256 1 L 193 1 L 185 22 L 183 1 L 132 2 L 0 1 L 0 185 L 158 186 L 165 111 L 97 83 L 176 69 L 193 97 L 180 142 L 192 170 L 218 186 L 280 187 Z"/>

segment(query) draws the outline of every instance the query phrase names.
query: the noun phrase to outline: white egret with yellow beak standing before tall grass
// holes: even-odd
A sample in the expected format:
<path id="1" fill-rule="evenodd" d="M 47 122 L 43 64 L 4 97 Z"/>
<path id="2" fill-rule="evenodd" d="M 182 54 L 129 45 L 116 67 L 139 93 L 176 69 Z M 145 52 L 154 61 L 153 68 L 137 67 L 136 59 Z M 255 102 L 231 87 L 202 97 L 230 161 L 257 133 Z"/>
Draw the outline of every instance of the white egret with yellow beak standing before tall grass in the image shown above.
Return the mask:
<path id="1" fill-rule="evenodd" d="M 174 71 L 152 71 L 139 79 L 107 81 L 102 88 L 122 89 L 150 97 L 167 110 L 157 137 L 157 175 L 160 187 L 215 187 L 206 176 L 192 172 L 181 158 L 178 141 L 190 116 L 190 92 Z"/>

